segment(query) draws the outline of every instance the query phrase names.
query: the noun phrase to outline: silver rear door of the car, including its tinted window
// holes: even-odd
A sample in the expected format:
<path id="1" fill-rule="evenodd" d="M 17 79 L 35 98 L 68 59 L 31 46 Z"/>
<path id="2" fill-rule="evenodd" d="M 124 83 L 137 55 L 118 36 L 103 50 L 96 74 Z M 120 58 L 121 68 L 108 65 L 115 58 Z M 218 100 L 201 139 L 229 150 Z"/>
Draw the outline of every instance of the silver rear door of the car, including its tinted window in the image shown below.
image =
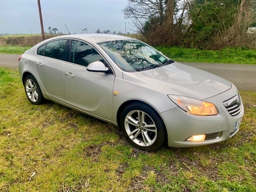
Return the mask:
<path id="1" fill-rule="evenodd" d="M 52 99 L 65 102 L 63 60 L 67 40 L 54 40 L 38 48 L 35 61 L 40 83 Z"/>

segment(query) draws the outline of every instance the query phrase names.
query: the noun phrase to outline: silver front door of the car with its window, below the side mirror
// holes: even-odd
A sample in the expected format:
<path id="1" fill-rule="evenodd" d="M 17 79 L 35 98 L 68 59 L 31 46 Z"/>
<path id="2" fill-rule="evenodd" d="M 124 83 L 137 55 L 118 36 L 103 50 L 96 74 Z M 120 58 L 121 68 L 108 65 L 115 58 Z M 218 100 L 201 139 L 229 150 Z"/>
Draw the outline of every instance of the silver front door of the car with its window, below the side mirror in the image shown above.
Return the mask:
<path id="1" fill-rule="evenodd" d="M 86 70 L 93 61 L 104 62 L 104 58 L 91 45 L 72 40 L 70 63 L 65 63 L 63 67 L 66 102 L 75 108 L 112 120 L 115 76 Z"/>

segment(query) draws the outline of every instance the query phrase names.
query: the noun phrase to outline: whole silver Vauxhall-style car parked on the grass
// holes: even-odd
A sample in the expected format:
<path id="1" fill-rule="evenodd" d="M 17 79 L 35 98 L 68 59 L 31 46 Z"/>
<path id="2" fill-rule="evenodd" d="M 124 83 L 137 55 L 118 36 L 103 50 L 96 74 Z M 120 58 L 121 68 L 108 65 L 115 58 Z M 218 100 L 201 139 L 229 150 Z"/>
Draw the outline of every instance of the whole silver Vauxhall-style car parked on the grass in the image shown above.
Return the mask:
<path id="1" fill-rule="evenodd" d="M 133 147 L 195 147 L 227 140 L 244 113 L 236 86 L 119 35 L 50 38 L 19 57 L 32 104 L 58 102 L 122 129 Z"/>

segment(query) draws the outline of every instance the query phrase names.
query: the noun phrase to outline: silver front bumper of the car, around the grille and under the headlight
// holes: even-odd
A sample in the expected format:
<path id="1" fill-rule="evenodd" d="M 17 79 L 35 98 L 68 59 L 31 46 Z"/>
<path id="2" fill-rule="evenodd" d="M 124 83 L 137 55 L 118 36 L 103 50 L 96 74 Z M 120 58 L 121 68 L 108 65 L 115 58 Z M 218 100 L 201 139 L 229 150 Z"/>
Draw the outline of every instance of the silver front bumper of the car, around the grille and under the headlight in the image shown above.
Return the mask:
<path id="1" fill-rule="evenodd" d="M 243 118 L 243 102 L 241 102 L 241 113 L 236 117 L 228 113 L 223 102 L 236 94 L 236 86 L 232 85 L 232 88 L 227 92 L 204 99 L 216 105 L 218 115 L 190 115 L 178 107 L 161 113 L 168 134 L 168 146 L 196 147 L 225 141 L 234 136 L 239 131 L 237 124 Z M 191 136 L 200 134 L 205 134 L 204 141 L 186 141 Z"/>

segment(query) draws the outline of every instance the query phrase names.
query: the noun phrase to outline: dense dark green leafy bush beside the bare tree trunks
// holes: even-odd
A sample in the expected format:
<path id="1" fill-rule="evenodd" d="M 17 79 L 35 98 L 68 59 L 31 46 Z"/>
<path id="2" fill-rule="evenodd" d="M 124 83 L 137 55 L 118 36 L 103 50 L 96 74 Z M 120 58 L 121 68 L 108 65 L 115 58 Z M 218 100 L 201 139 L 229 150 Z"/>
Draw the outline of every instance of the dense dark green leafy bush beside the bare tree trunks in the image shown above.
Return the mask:
<path id="1" fill-rule="evenodd" d="M 230 28 L 236 20 L 237 4 L 234 0 L 194 1 L 191 3 L 189 17 L 191 25 L 187 36 L 192 46 L 205 49 L 214 36 Z"/>

